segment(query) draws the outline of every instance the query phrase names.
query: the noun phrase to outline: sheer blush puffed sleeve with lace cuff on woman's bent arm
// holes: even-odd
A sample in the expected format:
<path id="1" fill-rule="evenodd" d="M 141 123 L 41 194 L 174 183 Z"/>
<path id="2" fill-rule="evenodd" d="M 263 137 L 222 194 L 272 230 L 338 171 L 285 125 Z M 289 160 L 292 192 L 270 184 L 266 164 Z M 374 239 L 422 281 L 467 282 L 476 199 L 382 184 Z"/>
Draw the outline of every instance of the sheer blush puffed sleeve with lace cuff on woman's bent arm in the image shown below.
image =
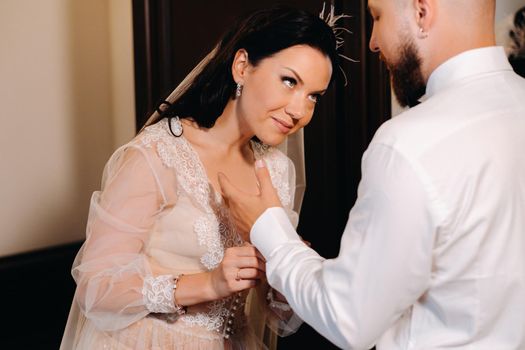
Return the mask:
<path id="1" fill-rule="evenodd" d="M 76 302 L 99 329 L 175 311 L 173 277 L 155 275 L 144 254 L 158 214 L 173 197 L 161 186 L 170 176 L 163 171 L 152 149 L 123 147 L 106 165 L 102 191 L 93 194 L 72 273 Z"/>

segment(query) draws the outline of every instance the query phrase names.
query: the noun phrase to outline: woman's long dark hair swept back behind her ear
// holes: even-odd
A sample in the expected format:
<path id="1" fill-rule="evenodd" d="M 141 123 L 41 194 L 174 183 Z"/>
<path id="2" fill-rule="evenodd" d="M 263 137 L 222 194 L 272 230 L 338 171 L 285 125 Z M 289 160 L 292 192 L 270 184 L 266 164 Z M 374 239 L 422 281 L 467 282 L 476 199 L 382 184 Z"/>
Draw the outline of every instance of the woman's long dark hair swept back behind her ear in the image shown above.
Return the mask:
<path id="1" fill-rule="evenodd" d="M 211 128 L 233 97 L 236 84 L 231 67 L 239 49 L 248 52 L 249 62 L 256 66 L 261 60 L 294 45 L 308 45 L 324 53 L 339 65 L 336 38 L 332 28 L 318 16 L 290 7 L 259 10 L 235 23 L 220 39 L 217 52 L 193 83 L 173 103 L 160 112 L 155 120 L 164 117 L 191 118 L 200 127 Z M 333 77 L 332 77 L 333 79 Z"/>

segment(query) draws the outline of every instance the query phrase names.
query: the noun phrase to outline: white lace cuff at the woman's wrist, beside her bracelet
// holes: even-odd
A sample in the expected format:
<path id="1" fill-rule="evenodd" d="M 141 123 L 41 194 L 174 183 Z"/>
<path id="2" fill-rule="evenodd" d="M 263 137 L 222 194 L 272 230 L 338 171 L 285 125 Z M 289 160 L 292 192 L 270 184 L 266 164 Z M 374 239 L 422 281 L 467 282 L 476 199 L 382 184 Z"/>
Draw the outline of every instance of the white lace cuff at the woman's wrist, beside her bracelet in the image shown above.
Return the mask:
<path id="1" fill-rule="evenodd" d="M 142 287 L 144 304 L 150 312 L 175 312 L 173 302 L 173 276 L 146 277 Z"/>

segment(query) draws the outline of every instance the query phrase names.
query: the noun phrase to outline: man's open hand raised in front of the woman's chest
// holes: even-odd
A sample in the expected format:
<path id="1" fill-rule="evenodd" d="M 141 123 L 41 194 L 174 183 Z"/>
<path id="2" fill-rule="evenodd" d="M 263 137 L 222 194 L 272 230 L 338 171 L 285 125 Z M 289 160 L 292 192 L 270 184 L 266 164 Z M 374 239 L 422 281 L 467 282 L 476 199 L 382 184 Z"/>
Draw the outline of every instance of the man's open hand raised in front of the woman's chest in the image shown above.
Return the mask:
<path id="1" fill-rule="evenodd" d="M 255 176 L 259 182 L 259 194 L 251 195 L 237 189 L 226 175 L 219 173 L 219 185 L 226 204 L 242 238 L 247 242 L 257 218 L 268 208 L 282 206 L 263 160 L 255 162 Z"/>

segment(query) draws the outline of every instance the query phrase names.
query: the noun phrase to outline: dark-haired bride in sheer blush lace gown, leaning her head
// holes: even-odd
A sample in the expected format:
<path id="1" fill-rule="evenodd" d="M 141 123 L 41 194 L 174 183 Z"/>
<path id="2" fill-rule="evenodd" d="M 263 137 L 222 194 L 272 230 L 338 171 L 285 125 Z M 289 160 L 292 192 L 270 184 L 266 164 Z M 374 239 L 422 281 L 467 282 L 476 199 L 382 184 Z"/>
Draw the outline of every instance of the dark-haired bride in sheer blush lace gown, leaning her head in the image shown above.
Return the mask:
<path id="1" fill-rule="evenodd" d="M 260 349 L 275 347 L 270 329 L 297 329 L 217 174 L 257 193 L 265 161 L 297 222 L 294 166 L 274 146 L 308 124 L 337 59 L 332 28 L 302 10 L 254 12 L 224 34 L 109 159 L 61 349 Z"/>

